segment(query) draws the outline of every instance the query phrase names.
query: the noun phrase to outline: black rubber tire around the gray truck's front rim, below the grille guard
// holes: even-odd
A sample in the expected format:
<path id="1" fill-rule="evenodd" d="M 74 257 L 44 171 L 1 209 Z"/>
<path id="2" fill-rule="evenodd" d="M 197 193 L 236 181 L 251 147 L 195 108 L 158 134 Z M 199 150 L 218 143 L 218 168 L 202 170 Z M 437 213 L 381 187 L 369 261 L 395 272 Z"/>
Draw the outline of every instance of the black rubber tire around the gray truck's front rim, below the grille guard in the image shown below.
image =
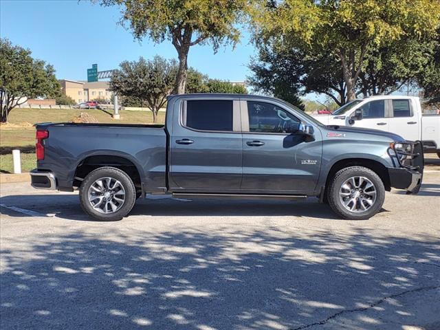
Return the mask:
<path id="1" fill-rule="evenodd" d="M 351 177 L 366 177 L 374 185 L 374 188 L 376 190 L 375 201 L 373 205 L 365 211 L 352 212 L 348 210 L 340 200 L 340 189 L 342 187 L 342 184 L 344 184 L 344 182 Z M 362 192 L 362 190 L 360 191 Z M 373 172 L 373 170 L 362 166 L 351 166 L 347 168 L 342 168 L 342 170 L 336 173 L 333 179 L 331 179 L 329 188 L 327 190 L 327 199 L 329 200 L 329 205 L 331 209 L 333 210 L 333 212 L 338 214 L 338 216 L 350 220 L 365 220 L 373 217 L 373 215 L 381 210 L 385 199 L 385 187 L 382 179 L 380 179 L 379 175 Z M 362 203 L 362 201 L 360 201 L 360 203 Z M 364 203 L 364 205 L 368 206 L 367 203 Z"/>

